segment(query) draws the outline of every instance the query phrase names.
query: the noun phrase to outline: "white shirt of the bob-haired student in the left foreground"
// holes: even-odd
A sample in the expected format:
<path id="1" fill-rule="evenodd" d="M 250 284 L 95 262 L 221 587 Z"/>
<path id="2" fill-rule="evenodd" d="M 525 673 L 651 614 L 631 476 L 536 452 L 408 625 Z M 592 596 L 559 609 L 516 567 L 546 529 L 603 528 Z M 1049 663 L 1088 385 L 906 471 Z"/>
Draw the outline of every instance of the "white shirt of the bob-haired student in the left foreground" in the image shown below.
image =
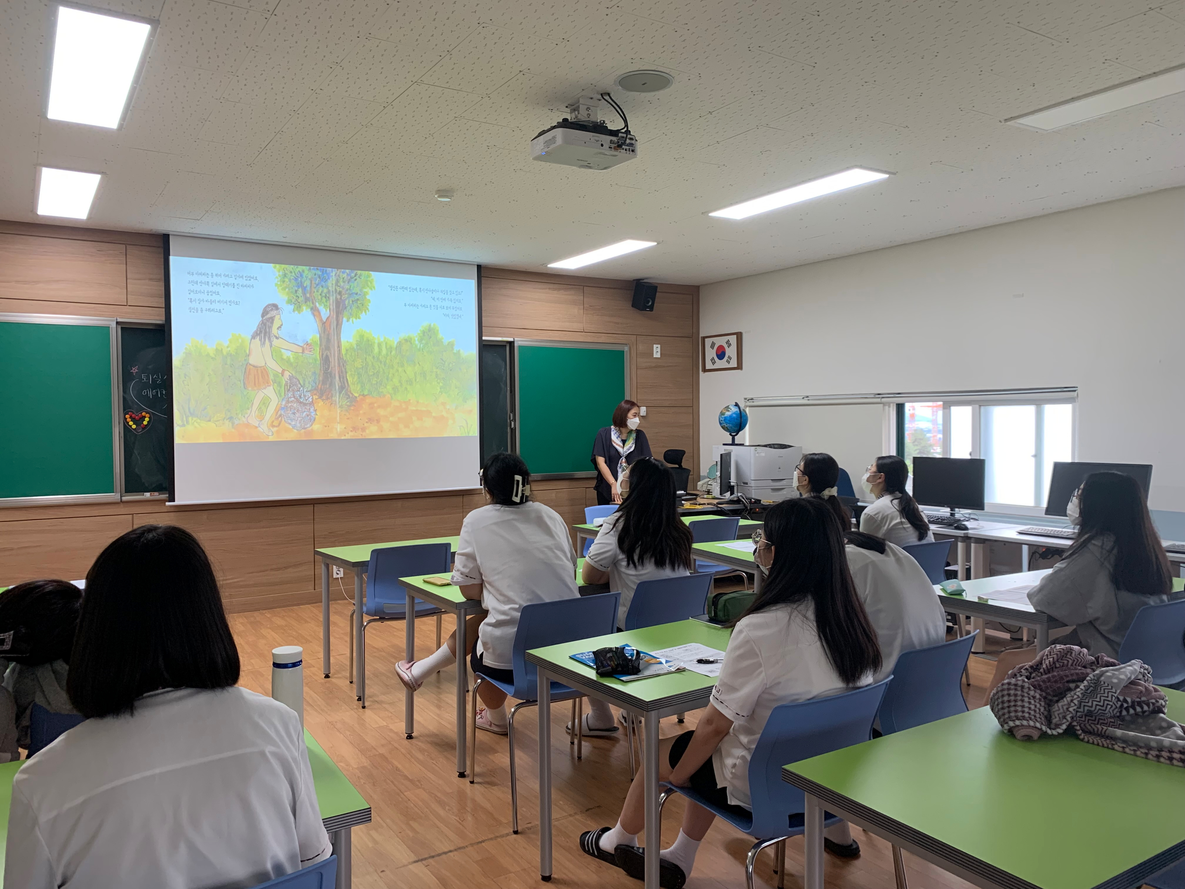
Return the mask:
<path id="1" fill-rule="evenodd" d="M 17 773 L 5 885 L 239 889 L 329 855 L 296 714 L 246 689 L 169 689 Z"/>

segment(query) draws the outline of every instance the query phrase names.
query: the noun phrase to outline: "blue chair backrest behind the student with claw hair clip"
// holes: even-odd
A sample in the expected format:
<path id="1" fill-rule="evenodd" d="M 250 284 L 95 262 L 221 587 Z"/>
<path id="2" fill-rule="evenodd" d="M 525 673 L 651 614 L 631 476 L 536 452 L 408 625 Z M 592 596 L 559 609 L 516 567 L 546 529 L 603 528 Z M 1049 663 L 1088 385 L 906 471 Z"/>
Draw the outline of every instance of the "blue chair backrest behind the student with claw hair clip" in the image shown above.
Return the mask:
<path id="1" fill-rule="evenodd" d="M 511 663 L 514 665 L 514 692 L 511 697 L 519 701 L 539 699 L 539 673 L 534 664 L 526 663 L 529 651 L 616 633 L 620 602 L 620 593 L 602 593 L 523 606 L 511 653 Z"/>

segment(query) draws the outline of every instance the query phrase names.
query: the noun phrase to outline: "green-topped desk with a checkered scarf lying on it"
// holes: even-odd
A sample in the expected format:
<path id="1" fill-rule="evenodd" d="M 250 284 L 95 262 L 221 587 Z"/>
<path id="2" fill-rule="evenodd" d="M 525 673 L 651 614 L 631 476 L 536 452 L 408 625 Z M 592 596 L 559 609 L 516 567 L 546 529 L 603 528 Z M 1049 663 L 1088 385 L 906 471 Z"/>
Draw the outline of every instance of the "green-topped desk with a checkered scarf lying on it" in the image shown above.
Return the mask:
<path id="1" fill-rule="evenodd" d="M 824 810 L 984 889 L 1130 889 L 1185 858 L 1185 769 L 1070 734 L 1017 741 L 986 706 L 782 779 L 807 794 L 806 889 L 824 885 Z"/>

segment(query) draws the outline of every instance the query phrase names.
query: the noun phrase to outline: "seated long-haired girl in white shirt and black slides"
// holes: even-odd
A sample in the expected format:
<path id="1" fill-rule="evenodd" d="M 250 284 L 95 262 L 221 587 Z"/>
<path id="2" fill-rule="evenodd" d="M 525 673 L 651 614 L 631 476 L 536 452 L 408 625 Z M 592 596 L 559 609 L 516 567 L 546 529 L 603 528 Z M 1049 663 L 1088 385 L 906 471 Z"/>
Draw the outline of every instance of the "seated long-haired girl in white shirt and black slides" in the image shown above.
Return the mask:
<path id="1" fill-rule="evenodd" d="M 749 760 L 779 704 L 838 695 L 866 685 L 880 650 L 847 569 L 844 529 L 825 501 L 783 500 L 766 514 L 754 552 L 768 575 L 736 622 L 712 699 L 694 731 L 659 742 L 659 779 L 693 787 L 719 806 L 749 807 Z M 642 878 L 646 778 L 639 772 L 615 827 L 581 834 L 587 855 Z M 693 802 L 674 844 L 659 852 L 660 885 L 679 889 L 715 816 Z M 846 824 L 827 831 L 827 848 L 856 855 Z"/>

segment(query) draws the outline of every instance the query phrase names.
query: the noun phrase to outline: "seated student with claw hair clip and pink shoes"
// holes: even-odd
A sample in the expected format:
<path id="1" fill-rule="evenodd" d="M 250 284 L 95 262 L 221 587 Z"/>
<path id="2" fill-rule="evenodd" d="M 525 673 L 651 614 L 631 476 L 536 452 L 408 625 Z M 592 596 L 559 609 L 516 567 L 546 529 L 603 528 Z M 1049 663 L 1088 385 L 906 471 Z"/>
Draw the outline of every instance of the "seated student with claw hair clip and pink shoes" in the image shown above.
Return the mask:
<path id="1" fill-rule="evenodd" d="M 461 524 L 453 583 L 466 599 L 480 601 L 486 616 L 470 619 L 469 666 L 499 682 L 514 682 L 514 634 L 519 612 L 534 602 L 576 599 L 576 552 L 568 525 L 550 506 L 531 499 L 531 472 L 518 454 L 493 454 L 481 471 L 488 505 Z M 476 632 L 474 632 L 476 629 Z M 402 660 L 395 670 L 415 691 L 424 679 L 456 660 L 456 633 L 423 660 Z M 478 728 L 507 734 L 506 695 L 491 683 L 478 686 L 485 708 Z"/>

